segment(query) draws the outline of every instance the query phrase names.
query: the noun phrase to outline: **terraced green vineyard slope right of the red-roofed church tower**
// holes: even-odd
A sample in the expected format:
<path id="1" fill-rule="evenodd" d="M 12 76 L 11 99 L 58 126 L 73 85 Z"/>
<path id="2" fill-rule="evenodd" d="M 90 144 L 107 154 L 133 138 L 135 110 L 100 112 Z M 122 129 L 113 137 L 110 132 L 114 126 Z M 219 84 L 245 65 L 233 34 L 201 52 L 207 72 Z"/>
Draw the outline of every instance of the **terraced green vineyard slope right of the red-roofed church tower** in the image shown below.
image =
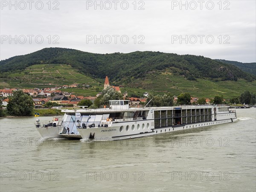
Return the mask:
<path id="1" fill-rule="evenodd" d="M 163 95 L 172 93 L 179 95 L 188 92 L 196 97 L 213 98 L 216 95 L 223 95 L 229 99 L 239 96 L 245 90 L 256 93 L 256 81 L 247 82 L 244 79 L 238 81 L 210 81 L 210 79 L 197 79 L 197 81 L 186 80 L 183 76 L 172 75 L 171 73 L 158 73 L 147 75 L 143 80 L 134 80 L 131 84 L 137 89 L 131 89 L 134 93 L 140 93 L 139 87 L 145 88 L 153 93 Z"/>

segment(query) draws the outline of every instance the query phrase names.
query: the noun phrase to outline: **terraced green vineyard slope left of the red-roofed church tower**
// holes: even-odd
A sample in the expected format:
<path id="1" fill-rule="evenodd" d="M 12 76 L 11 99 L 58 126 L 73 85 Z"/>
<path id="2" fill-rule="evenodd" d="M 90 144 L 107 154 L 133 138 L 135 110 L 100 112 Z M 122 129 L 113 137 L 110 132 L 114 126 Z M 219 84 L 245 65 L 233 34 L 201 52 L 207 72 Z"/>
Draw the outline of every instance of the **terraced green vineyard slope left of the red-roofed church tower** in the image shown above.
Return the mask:
<path id="1" fill-rule="evenodd" d="M 96 79 L 85 76 L 77 69 L 65 64 L 38 64 L 27 67 L 23 72 L 3 73 L 0 87 L 45 88 L 73 83 L 102 88 L 102 83 Z"/>

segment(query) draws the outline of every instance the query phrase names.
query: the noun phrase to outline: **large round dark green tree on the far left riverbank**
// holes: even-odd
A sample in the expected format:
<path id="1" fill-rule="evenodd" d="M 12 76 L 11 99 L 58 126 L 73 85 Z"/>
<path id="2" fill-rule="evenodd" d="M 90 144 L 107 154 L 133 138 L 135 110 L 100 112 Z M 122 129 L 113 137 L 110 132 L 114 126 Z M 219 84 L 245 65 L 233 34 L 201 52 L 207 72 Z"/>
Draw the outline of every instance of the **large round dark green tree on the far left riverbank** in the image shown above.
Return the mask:
<path id="1" fill-rule="evenodd" d="M 22 90 L 13 92 L 13 97 L 9 100 L 7 111 L 13 116 L 31 116 L 34 110 L 32 97 L 23 93 Z"/>

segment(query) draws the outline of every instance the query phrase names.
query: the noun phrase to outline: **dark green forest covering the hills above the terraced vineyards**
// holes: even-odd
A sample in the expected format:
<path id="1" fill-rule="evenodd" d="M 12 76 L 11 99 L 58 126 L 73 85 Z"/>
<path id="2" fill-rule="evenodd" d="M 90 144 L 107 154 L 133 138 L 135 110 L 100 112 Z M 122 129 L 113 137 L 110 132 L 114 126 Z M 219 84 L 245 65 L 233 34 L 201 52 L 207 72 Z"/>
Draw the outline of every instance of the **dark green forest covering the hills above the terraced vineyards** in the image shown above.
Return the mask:
<path id="1" fill-rule="evenodd" d="M 213 81 L 253 81 L 256 76 L 248 74 L 232 64 L 195 55 L 177 55 L 163 52 L 131 52 L 95 54 L 75 49 L 45 48 L 27 55 L 0 61 L 1 73 L 25 70 L 35 64 L 68 64 L 87 76 L 109 76 L 118 84 L 131 79 L 141 79 L 156 71 L 168 71 L 188 80 L 211 79 Z"/>

